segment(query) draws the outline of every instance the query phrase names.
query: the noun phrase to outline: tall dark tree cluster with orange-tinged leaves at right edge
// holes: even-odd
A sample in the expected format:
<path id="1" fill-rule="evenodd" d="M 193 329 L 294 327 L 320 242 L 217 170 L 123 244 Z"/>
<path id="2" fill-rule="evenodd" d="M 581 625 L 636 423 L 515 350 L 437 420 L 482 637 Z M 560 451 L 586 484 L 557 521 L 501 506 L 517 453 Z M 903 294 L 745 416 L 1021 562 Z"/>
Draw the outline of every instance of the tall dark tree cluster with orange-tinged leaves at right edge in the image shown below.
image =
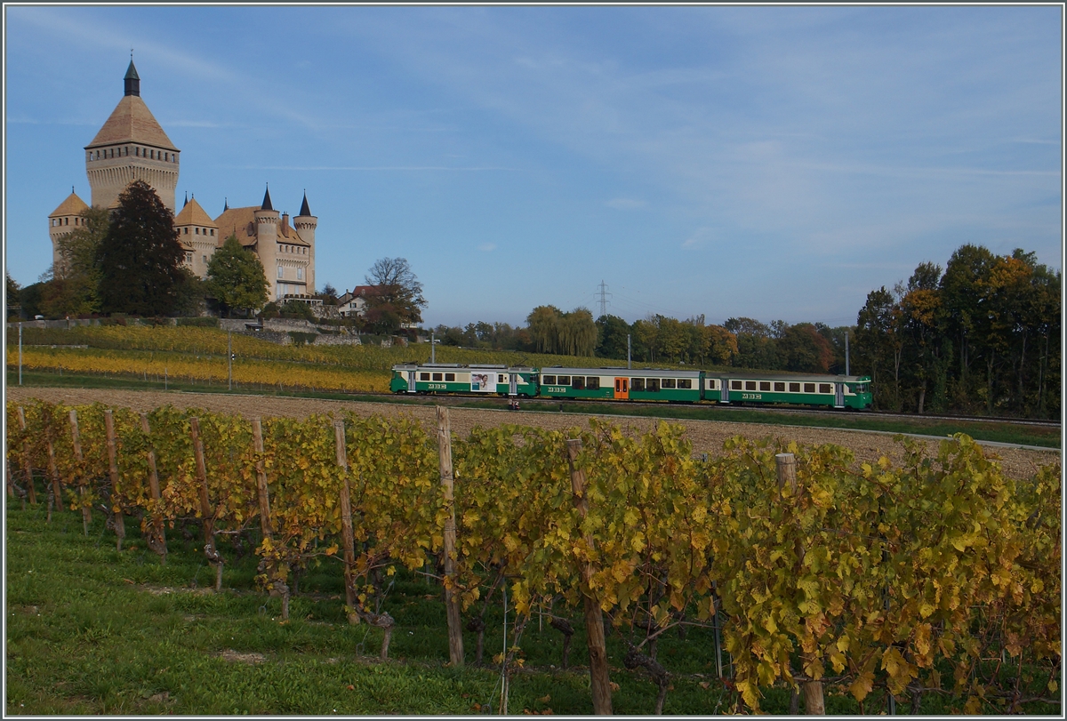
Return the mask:
<path id="1" fill-rule="evenodd" d="M 1034 253 L 961 245 L 867 294 L 854 367 L 876 407 L 1058 417 L 1061 288 Z"/>

